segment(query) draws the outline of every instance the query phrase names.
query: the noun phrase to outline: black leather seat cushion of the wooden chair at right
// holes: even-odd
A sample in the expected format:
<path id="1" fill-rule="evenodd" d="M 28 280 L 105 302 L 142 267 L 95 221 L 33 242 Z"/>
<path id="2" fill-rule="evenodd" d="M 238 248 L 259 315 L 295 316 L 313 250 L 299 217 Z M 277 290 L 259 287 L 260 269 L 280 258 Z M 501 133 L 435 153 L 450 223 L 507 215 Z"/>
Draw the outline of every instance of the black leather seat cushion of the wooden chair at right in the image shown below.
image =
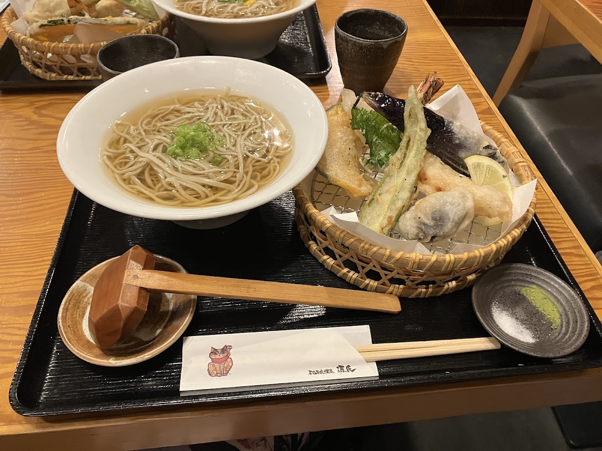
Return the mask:
<path id="1" fill-rule="evenodd" d="M 589 247 L 602 250 L 602 73 L 526 81 L 499 109 Z"/>

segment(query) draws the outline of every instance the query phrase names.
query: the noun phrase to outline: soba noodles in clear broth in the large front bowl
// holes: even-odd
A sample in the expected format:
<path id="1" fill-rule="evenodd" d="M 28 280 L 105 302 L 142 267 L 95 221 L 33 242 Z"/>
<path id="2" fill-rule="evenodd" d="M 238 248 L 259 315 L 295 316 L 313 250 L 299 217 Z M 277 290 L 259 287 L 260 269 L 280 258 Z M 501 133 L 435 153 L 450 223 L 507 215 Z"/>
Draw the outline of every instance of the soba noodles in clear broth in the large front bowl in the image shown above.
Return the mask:
<path id="1" fill-rule="evenodd" d="M 291 152 L 288 127 L 252 99 L 205 91 L 158 105 L 131 122 L 114 122 L 101 150 L 117 183 L 146 200 L 199 207 L 244 198 L 272 182 Z M 213 127 L 217 146 L 202 158 L 166 155 L 176 127 L 200 122 Z"/>

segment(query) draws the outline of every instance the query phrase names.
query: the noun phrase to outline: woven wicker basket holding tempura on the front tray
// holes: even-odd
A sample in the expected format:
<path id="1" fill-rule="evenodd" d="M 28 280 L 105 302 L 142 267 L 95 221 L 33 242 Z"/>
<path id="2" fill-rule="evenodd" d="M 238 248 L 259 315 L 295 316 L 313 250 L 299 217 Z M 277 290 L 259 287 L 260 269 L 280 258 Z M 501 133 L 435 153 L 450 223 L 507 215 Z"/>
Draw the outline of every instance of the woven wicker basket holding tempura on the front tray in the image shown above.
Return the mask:
<path id="1" fill-rule="evenodd" d="M 495 141 L 521 184 L 535 179 L 514 145 L 485 123 L 481 122 L 481 126 Z M 406 298 L 439 296 L 470 286 L 483 271 L 500 263 L 523 236 L 535 212 L 534 194 L 529 209 L 516 227 L 492 244 L 464 254 L 427 256 L 391 251 L 364 241 L 321 215 L 300 185 L 293 193 L 297 229 L 320 263 L 365 290 Z"/>

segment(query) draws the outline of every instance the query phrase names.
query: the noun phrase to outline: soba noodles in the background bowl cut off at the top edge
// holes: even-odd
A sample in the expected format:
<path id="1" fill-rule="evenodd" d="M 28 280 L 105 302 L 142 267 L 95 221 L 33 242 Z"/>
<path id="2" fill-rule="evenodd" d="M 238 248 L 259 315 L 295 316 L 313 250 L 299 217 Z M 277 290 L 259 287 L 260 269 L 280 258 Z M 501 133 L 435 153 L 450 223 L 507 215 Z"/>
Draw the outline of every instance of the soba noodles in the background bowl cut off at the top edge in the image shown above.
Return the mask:
<path id="1" fill-rule="evenodd" d="M 244 19 L 288 11 L 296 5 L 296 0 L 175 0 L 173 5 L 185 13 L 197 16 Z"/>

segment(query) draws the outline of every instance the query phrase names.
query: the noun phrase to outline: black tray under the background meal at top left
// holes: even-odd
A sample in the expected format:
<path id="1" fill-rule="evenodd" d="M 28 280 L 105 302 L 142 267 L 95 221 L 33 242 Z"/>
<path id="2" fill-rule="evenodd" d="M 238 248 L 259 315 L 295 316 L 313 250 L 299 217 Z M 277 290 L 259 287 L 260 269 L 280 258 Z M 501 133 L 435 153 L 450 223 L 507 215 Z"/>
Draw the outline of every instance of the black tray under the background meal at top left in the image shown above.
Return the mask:
<path id="1" fill-rule="evenodd" d="M 194 32 L 176 19 L 180 53 L 183 57 L 206 55 L 207 52 Z M 313 5 L 297 16 L 294 22 L 284 31 L 278 46 L 262 63 L 278 67 L 301 79 L 320 78 L 332 67 L 330 56 L 324 41 L 324 33 Z M 48 91 L 70 89 L 89 91 L 101 84 L 101 80 L 64 80 L 48 81 L 27 72 L 19 60 L 19 52 L 13 41 L 7 38 L 0 48 L 0 91 L 36 90 Z"/>

